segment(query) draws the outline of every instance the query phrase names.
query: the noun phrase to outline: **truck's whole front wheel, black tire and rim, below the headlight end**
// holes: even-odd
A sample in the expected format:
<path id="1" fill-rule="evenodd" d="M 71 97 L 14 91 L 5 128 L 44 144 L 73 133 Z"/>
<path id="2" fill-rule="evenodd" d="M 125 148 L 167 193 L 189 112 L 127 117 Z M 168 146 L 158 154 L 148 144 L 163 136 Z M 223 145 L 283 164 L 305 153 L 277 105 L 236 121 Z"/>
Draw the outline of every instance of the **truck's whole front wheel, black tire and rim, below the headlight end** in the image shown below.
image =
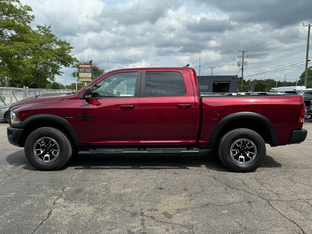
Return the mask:
<path id="1" fill-rule="evenodd" d="M 63 132 L 43 127 L 27 137 L 24 151 L 31 165 L 42 171 L 52 171 L 60 169 L 69 161 L 73 147 Z"/>

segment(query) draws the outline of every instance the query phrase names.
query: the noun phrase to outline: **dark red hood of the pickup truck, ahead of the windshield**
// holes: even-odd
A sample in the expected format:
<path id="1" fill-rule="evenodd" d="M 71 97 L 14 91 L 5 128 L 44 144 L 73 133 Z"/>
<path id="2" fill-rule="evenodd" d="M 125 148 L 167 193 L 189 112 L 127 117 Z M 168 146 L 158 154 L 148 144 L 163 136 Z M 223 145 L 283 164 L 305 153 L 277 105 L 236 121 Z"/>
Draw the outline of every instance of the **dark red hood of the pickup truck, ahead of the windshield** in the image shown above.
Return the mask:
<path id="1" fill-rule="evenodd" d="M 34 104 L 45 104 L 45 103 L 55 103 L 63 100 L 67 94 L 43 94 L 30 98 L 26 98 L 24 100 L 15 102 L 12 104 L 12 108 L 16 108 L 19 106 L 25 105 L 34 105 Z"/>

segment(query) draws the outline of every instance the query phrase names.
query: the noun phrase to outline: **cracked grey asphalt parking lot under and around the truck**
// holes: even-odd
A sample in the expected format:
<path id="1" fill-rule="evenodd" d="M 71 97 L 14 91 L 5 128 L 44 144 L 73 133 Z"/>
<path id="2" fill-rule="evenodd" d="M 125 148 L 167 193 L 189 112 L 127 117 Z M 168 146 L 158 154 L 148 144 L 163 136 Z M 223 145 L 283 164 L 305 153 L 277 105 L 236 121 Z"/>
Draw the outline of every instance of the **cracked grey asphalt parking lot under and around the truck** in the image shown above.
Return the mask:
<path id="1" fill-rule="evenodd" d="M 255 172 L 199 155 L 80 156 L 40 172 L 0 122 L 0 233 L 312 233 L 312 121 Z"/>

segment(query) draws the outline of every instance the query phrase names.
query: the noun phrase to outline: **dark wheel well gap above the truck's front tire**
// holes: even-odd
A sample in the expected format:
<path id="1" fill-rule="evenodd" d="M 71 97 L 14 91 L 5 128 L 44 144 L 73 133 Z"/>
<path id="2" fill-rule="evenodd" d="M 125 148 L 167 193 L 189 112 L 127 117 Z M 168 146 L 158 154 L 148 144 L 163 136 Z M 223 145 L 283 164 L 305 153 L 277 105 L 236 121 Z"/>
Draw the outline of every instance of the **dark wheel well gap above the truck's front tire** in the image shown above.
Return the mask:
<path id="1" fill-rule="evenodd" d="M 66 137 L 68 137 L 73 147 L 76 147 L 73 137 L 62 124 L 53 120 L 45 120 L 45 119 L 36 120 L 26 125 L 20 137 L 20 142 L 19 142 L 20 146 L 24 147 L 26 138 L 29 136 L 29 134 L 31 134 L 36 129 L 42 128 L 42 127 L 54 127 L 54 128 L 59 129 L 66 135 Z"/>

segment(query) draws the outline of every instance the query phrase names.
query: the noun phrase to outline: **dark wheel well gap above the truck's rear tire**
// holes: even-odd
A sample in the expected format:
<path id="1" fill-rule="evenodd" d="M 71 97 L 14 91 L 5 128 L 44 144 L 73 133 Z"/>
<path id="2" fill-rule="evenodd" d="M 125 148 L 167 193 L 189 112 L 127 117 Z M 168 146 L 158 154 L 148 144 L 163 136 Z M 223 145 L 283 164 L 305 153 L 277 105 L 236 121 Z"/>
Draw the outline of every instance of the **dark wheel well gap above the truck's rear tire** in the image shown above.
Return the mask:
<path id="1" fill-rule="evenodd" d="M 269 128 L 262 121 L 253 118 L 239 118 L 227 122 L 219 131 L 215 140 L 215 145 L 217 145 L 224 134 L 236 128 L 251 129 L 259 134 L 265 143 L 272 145 L 272 136 Z"/>

